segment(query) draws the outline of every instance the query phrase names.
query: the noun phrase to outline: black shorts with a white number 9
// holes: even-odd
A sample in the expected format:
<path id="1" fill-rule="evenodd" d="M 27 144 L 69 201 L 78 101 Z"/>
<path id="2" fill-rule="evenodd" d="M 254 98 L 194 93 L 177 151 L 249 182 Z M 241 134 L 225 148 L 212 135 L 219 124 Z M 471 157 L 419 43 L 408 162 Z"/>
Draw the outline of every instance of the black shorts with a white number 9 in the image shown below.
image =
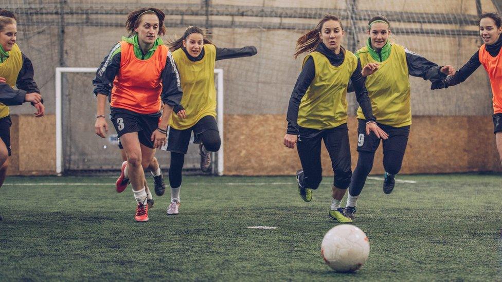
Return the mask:
<path id="1" fill-rule="evenodd" d="M 382 139 L 370 132 L 366 135 L 366 120 L 357 119 L 357 151 L 375 152 Z M 410 126 L 393 127 L 381 123 L 377 123 L 388 135 L 389 139 L 382 140 L 384 153 L 387 151 L 397 151 L 403 153 L 406 151 L 408 144 Z"/>

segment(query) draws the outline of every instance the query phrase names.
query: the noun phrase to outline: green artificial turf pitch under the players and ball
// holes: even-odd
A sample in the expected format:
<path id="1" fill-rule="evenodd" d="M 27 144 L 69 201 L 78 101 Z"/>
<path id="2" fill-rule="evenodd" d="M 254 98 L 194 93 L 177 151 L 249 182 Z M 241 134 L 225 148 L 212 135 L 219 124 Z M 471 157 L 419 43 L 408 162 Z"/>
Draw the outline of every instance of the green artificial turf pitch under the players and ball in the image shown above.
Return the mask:
<path id="1" fill-rule="evenodd" d="M 501 176 L 397 179 L 416 183 L 390 195 L 381 180 L 366 183 L 354 224 L 370 255 L 344 274 L 320 256 L 336 225 L 330 177 L 305 203 L 294 176 L 185 176 L 180 214 L 166 215 L 167 190 L 146 223 L 134 221 L 133 194 L 116 193 L 113 177 L 9 177 L 0 280 L 502 280 Z"/>

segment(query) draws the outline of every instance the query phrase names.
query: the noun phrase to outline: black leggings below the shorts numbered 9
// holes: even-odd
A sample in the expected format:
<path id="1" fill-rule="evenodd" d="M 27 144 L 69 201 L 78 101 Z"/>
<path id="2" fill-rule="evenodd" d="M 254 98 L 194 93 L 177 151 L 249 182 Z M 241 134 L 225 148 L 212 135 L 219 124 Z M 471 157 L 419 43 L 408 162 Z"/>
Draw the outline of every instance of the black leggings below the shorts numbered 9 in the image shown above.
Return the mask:
<path id="1" fill-rule="evenodd" d="M 351 196 L 359 196 L 363 190 L 366 177 L 373 168 L 374 152 L 360 151 L 357 158 L 352 179 L 350 181 L 349 193 Z M 384 153 L 384 168 L 389 174 L 398 174 L 403 164 L 404 153 L 398 151 L 387 151 Z"/>

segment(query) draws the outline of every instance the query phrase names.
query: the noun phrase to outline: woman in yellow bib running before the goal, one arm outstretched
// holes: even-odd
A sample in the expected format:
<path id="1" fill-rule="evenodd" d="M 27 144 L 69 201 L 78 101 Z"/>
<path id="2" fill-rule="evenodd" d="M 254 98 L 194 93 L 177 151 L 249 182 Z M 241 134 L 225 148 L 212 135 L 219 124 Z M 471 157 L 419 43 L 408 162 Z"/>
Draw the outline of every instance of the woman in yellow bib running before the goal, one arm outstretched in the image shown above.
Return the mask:
<path id="1" fill-rule="evenodd" d="M 171 152 L 169 183 L 171 204 L 167 214 L 179 213 L 183 163 L 190 136 L 200 142 L 201 169 L 208 171 L 210 152 L 220 149 L 221 140 L 216 124 L 216 87 L 214 63 L 218 60 L 249 57 L 257 53 L 254 46 L 219 48 L 206 38 L 204 30 L 190 26 L 183 36 L 168 44 L 180 70 L 183 98 L 175 110 L 169 128 L 167 151 Z"/>

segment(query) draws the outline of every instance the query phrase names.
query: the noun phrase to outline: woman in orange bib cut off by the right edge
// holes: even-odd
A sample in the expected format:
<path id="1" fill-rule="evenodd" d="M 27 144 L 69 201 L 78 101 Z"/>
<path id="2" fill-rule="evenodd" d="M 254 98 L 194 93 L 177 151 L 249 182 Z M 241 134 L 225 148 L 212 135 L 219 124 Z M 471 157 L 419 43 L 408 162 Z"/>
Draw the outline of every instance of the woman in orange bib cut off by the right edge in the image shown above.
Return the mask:
<path id="1" fill-rule="evenodd" d="M 480 65 L 485 67 L 490 78 L 493 95 L 493 133 L 502 162 L 502 18 L 497 13 L 484 13 L 479 20 L 479 35 L 484 44 L 453 76 L 433 84 L 431 89 L 441 89 L 464 82 Z"/>

